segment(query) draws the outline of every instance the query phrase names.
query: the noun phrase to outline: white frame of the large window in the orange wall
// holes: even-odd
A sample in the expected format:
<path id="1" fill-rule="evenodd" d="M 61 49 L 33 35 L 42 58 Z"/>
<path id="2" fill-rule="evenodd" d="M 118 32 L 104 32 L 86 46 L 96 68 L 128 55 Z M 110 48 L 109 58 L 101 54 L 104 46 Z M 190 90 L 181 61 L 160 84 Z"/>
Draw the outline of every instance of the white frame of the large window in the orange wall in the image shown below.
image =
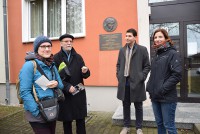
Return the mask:
<path id="1" fill-rule="evenodd" d="M 30 2 L 35 0 L 22 0 L 22 42 L 33 42 L 35 38 L 31 38 L 31 26 L 30 26 Z M 43 34 L 47 36 L 47 1 L 43 0 L 43 11 L 44 11 L 44 31 Z M 61 16 L 66 16 L 66 0 L 61 0 Z M 72 34 L 75 38 L 86 36 L 85 27 L 85 0 L 82 0 L 82 33 Z M 61 18 L 61 34 L 66 33 L 66 17 Z M 59 37 L 50 37 L 51 40 L 57 40 Z"/>

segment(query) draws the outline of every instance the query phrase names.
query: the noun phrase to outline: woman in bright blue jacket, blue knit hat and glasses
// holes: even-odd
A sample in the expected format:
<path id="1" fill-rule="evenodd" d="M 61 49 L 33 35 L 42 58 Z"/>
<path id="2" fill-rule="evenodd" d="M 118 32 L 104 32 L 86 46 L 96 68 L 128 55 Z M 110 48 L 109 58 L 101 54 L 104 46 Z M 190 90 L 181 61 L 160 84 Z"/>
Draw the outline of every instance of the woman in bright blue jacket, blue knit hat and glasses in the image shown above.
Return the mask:
<path id="1" fill-rule="evenodd" d="M 45 122 L 39 112 L 38 104 L 34 99 L 33 85 L 39 100 L 43 98 L 53 98 L 54 88 L 62 89 L 63 84 L 58 71 L 53 63 L 51 53 L 52 43 L 46 36 L 38 36 L 34 41 L 35 61 L 44 71 L 48 79 L 47 89 L 43 90 L 35 81 L 41 77 L 41 73 L 34 72 L 33 62 L 27 60 L 20 70 L 20 96 L 24 102 L 25 116 L 36 134 L 54 134 L 56 121 Z"/>

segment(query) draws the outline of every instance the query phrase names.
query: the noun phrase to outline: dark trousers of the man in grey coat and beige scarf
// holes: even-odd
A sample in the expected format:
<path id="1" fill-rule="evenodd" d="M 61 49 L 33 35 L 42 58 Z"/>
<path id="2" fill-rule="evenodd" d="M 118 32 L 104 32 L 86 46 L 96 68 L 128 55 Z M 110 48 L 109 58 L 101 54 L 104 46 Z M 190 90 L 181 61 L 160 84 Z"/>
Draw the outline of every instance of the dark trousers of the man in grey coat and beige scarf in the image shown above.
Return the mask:
<path id="1" fill-rule="evenodd" d="M 136 129 L 142 128 L 143 121 L 143 102 L 134 102 L 135 106 L 135 126 Z M 131 100 L 130 100 L 130 86 L 125 88 L 125 98 L 123 101 L 123 115 L 124 115 L 124 127 L 131 126 Z"/>

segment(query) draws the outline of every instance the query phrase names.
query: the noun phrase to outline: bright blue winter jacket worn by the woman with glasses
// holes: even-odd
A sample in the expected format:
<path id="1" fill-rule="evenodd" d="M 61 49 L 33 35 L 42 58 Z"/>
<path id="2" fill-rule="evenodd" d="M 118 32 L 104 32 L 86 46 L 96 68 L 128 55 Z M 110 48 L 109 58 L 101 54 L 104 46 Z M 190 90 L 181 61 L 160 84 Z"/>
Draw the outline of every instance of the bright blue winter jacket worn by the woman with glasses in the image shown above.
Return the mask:
<path id="1" fill-rule="evenodd" d="M 35 61 L 43 69 L 48 79 L 56 80 L 58 82 L 57 88 L 63 89 L 64 86 L 55 65 L 52 64 L 51 67 L 49 67 L 38 59 L 35 59 Z M 51 71 L 51 68 L 53 68 L 55 71 Z M 52 72 L 54 73 L 52 74 Z M 19 73 L 20 96 L 24 102 L 24 109 L 31 112 L 35 117 L 39 115 L 39 109 L 32 93 L 33 84 L 39 100 L 45 97 L 54 97 L 52 89 L 47 88 L 46 90 L 43 90 L 39 85 L 35 83 L 35 81 L 40 77 L 41 74 L 38 70 L 36 70 L 34 74 L 34 65 L 32 61 L 26 61 Z"/>

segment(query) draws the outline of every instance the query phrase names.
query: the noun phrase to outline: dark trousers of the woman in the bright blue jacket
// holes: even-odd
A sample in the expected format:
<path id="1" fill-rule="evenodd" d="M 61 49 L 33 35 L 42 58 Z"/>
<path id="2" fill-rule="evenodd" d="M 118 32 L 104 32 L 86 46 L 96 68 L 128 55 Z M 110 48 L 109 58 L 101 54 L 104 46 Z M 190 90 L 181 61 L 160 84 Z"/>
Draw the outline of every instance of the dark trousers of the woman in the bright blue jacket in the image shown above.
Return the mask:
<path id="1" fill-rule="evenodd" d="M 39 123 L 29 122 L 35 134 L 55 134 L 56 121 Z"/>

